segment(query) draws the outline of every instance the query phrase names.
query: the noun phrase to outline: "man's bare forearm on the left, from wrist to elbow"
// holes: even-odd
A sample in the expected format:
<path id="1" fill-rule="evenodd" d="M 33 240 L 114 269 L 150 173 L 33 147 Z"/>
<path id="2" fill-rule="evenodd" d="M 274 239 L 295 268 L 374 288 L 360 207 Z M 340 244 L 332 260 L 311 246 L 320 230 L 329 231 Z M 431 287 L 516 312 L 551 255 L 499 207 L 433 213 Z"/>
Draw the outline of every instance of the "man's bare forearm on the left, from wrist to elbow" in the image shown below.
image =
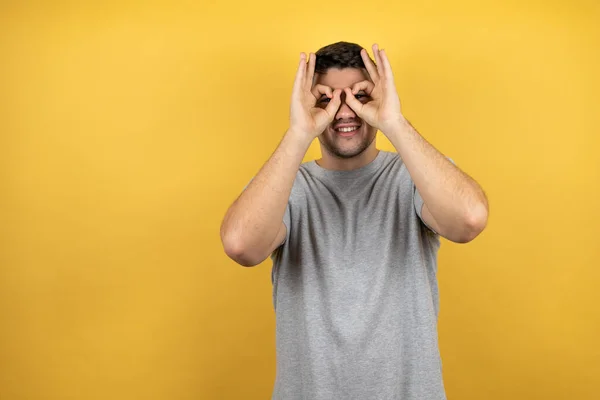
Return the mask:
<path id="1" fill-rule="evenodd" d="M 228 254 L 264 256 L 275 240 L 296 173 L 310 142 L 288 131 L 246 190 L 227 211 L 221 240 Z"/>

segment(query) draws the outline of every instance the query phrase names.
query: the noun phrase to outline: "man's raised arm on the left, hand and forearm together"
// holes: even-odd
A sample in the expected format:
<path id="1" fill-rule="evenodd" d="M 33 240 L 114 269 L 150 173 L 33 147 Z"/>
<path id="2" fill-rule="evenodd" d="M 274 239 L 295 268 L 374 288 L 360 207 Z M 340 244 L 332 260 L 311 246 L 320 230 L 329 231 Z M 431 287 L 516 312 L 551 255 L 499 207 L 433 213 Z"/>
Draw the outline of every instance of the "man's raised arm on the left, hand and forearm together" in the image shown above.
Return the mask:
<path id="1" fill-rule="evenodd" d="M 311 142 L 333 121 L 340 106 L 341 90 L 312 87 L 314 69 L 315 55 L 307 63 L 302 53 L 292 90 L 290 127 L 221 224 L 225 253 L 243 266 L 260 264 L 282 244 L 286 237 L 283 217 L 296 173 Z M 322 94 L 331 99 L 325 109 L 315 107 Z"/>

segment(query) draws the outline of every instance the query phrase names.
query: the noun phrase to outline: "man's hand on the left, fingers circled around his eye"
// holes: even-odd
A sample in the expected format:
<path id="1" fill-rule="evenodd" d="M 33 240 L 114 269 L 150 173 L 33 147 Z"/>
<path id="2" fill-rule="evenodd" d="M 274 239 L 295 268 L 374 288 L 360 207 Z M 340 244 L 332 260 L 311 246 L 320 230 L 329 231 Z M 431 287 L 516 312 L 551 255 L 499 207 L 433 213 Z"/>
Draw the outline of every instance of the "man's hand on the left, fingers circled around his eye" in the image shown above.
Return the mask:
<path id="1" fill-rule="evenodd" d="M 315 74 L 316 56 L 310 53 L 310 59 L 306 62 L 306 55 L 300 54 L 300 64 L 296 72 L 292 101 L 290 107 L 290 131 L 305 135 L 306 139 L 312 141 L 319 136 L 333 121 L 341 104 L 340 89 L 332 90 L 329 86 L 315 85 L 313 77 Z M 327 96 L 330 100 L 327 107 L 317 106 L 317 101 Z"/>

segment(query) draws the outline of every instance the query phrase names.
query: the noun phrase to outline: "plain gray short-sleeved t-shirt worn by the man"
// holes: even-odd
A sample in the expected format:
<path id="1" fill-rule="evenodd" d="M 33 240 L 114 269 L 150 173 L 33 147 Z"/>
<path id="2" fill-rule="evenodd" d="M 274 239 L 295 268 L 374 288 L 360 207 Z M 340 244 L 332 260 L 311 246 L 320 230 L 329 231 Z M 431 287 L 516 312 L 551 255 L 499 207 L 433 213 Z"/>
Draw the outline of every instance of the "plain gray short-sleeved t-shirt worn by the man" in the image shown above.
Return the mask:
<path id="1" fill-rule="evenodd" d="M 397 153 L 352 171 L 300 166 L 271 255 L 274 400 L 446 399 L 439 235 Z"/>

